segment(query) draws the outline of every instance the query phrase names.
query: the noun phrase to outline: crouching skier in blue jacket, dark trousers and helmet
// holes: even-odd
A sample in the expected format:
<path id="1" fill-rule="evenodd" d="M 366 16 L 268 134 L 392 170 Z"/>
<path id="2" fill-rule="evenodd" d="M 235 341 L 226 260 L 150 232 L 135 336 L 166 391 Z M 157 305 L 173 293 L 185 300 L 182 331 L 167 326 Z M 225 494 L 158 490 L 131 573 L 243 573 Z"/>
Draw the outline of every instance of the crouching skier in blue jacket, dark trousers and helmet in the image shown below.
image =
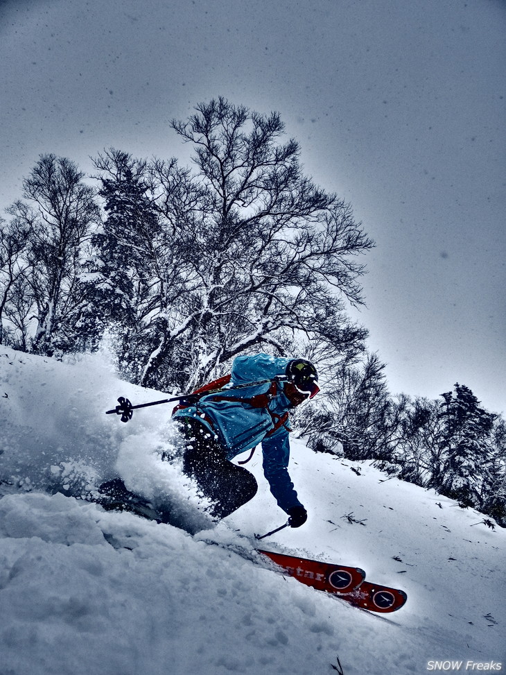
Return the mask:
<path id="1" fill-rule="evenodd" d="M 224 388 L 176 407 L 173 418 L 184 438 L 183 470 L 209 497 L 215 518 L 225 518 L 256 494 L 254 476 L 230 460 L 261 443 L 263 472 L 277 504 L 290 516 L 291 527 L 306 522 L 306 509 L 288 474 L 288 412 L 317 394 L 317 379 L 315 366 L 305 359 L 241 356 L 234 359 Z M 258 384 L 262 380 L 267 384 Z"/>

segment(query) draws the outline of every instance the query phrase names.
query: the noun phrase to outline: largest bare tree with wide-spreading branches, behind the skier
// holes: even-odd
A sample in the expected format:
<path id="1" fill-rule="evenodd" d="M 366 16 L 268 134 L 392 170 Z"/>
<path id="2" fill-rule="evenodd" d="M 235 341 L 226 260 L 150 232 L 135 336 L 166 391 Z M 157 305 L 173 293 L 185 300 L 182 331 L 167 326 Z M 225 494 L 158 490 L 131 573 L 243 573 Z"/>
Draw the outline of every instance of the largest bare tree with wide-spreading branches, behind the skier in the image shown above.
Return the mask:
<path id="1" fill-rule="evenodd" d="M 294 336 L 334 354 L 362 350 L 366 332 L 344 310 L 362 302 L 357 256 L 372 241 L 349 205 L 304 176 L 297 143 L 280 140 L 279 114 L 225 99 L 196 110 L 172 126 L 193 144 L 197 173 L 173 160 L 152 167 L 187 283 L 159 314 L 141 383 L 160 386 L 169 362 L 172 384 L 200 384 L 236 354 L 266 345 L 283 353 Z"/>

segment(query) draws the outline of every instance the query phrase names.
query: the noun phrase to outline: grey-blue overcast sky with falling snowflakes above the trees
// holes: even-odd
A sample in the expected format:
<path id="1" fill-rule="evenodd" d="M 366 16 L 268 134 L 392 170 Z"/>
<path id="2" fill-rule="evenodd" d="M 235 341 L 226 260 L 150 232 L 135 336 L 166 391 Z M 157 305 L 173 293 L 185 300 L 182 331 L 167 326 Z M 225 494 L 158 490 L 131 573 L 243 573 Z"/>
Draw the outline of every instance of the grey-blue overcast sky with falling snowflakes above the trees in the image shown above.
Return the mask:
<path id="1" fill-rule="evenodd" d="M 0 0 L 0 211 L 40 153 L 185 163 L 201 101 L 276 110 L 376 241 L 390 391 L 506 413 L 505 41 L 504 0 Z"/>

